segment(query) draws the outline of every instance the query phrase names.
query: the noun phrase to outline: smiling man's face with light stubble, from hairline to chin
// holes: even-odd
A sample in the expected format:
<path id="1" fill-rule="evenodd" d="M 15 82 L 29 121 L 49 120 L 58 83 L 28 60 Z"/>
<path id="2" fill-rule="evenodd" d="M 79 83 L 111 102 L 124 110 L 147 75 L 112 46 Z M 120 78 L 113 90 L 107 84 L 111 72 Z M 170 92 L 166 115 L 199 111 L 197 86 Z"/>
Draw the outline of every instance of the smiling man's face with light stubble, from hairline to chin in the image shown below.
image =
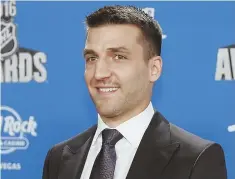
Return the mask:
<path id="1" fill-rule="evenodd" d="M 125 114 L 150 98 L 149 66 L 140 35 L 132 25 L 104 25 L 88 30 L 85 80 L 101 116 Z"/>

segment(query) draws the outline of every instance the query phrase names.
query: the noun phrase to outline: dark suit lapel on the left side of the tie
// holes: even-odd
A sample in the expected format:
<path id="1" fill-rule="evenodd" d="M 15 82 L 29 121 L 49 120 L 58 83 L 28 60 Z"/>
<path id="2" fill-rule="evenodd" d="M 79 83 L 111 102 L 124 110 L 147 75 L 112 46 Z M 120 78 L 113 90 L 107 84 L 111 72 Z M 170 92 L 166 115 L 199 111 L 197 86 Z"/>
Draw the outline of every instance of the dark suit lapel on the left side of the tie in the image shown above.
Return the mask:
<path id="1" fill-rule="evenodd" d="M 64 147 L 58 179 L 77 179 L 81 177 L 95 130 L 96 127 L 94 126 L 90 133 L 80 136 L 78 140 L 74 140 L 72 144 Z M 80 142 L 80 144 L 76 142 Z"/>

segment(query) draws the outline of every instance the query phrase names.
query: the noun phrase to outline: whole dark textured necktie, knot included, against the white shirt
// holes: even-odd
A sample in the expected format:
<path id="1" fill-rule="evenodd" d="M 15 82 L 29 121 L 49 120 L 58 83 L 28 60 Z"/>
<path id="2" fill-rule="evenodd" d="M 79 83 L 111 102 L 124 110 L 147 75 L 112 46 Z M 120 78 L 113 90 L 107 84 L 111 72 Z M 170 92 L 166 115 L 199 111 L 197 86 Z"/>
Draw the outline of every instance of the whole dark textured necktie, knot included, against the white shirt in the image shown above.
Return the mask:
<path id="1" fill-rule="evenodd" d="M 122 137 L 116 129 L 103 130 L 102 147 L 94 162 L 90 179 L 113 179 L 116 165 L 115 144 Z"/>

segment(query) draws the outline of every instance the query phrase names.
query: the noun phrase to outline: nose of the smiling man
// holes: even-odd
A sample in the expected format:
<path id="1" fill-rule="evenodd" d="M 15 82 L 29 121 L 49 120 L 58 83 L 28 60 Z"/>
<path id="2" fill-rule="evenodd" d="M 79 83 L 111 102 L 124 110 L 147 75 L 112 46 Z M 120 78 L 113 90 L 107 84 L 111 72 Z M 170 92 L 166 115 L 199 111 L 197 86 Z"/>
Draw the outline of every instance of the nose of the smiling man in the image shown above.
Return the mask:
<path id="1" fill-rule="evenodd" d="M 111 70 L 107 62 L 100 59 L 96 62 L 95 78 L 96 80 L 102 80 L 111 76 Z"/>

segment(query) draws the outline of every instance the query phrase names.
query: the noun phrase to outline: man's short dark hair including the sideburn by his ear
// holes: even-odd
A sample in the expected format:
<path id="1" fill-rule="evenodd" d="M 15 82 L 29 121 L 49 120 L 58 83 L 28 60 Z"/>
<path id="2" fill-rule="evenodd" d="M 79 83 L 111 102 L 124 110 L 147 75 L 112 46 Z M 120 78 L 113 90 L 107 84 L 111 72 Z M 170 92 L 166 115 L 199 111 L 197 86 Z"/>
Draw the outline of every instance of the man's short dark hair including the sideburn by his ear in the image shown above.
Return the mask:
<path id="1" fill-rule="evenodd" d="M 161 55 L 162 29 L 159 23 L 134 6 L 104 6 L 86 17 L 89 28 L 106 24 L 132 24 L 141 29 L 148 44 L 148 58 Z"/>

